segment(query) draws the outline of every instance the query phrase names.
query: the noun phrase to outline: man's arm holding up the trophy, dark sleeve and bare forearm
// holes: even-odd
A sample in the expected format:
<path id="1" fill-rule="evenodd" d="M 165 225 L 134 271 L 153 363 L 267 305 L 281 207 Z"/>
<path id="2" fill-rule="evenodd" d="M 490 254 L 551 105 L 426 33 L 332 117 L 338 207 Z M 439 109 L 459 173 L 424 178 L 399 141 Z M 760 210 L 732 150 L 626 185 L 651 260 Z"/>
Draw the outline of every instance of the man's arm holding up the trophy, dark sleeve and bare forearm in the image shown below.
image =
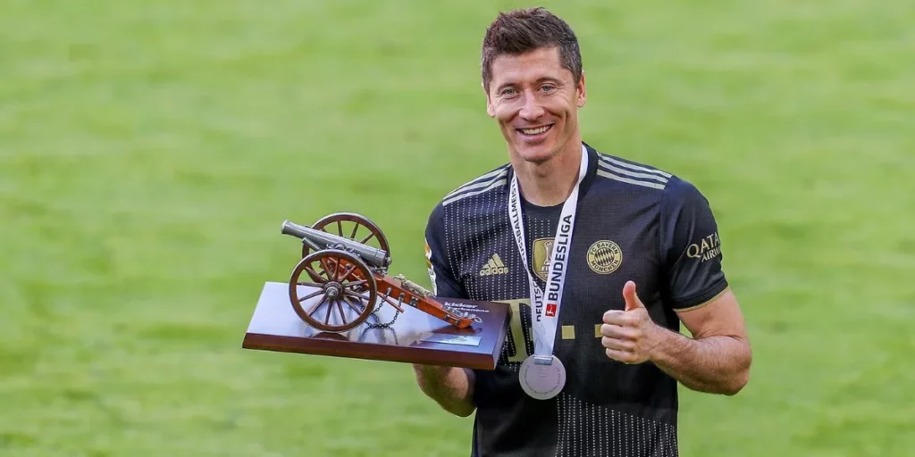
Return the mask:
<path id="1" fill-rule="evenodd" d="M 425 266 L 429 280 L 438 297 L 467 298 L 467 292 L 458 282 L 446 256 L 444 207 L 439 204 L 425 228 Z M 419 388 L 442 409 L 460 417 L 467 417 L 476 409 L 472 370 L 431 365 L 414 365 L 413 368 Z"/>

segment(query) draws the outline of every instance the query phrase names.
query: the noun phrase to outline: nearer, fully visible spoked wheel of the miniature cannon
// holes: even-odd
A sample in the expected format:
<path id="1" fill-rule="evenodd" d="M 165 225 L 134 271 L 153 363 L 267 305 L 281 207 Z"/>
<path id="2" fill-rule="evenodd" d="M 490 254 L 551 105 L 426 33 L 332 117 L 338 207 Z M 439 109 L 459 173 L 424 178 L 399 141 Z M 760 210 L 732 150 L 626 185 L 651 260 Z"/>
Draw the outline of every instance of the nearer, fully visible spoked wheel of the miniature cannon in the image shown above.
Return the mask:
<path id="1" fill-rule="evenodd" d="M 319 250 L 296 265 L 289 278 L 289 300 L 307 324 L 325 332 L 344 332 L 371 315 L 377 292 L 369 267 L 349 252 Z"/>

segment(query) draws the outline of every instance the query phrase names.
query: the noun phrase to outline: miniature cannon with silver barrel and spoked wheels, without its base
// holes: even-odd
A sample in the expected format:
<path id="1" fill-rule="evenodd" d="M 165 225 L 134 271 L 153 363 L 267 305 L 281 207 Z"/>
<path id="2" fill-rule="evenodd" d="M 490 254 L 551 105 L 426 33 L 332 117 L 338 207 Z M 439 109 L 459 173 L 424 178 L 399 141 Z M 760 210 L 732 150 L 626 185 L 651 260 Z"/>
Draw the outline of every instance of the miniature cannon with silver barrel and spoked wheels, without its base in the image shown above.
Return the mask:
<path id="1" fill-rule="evenodd" d="M 351 231 L 344 230 L 344 224 L 352 224 Z M 362 237 L 360 230 L 368 234 Z M 480 322 L 473 314 L 438 302 L 432 292 L 408 281 L 404 275 L 388 275 L 392 262 L 388 241 L 368 218 L 335 213 L 311 227 L 285 220 L 281 233 L 302 241 L 302 260 L 289 278 L 289 301 L 296 314 L 318 330 L 350 330 L 379 311 L 383 303 L 397 310 L 394 319 L 404 313 L 405 304 L 458 328 Z M 377 247 L 368 244 L 370 241 Z M 310 289 L 302 292 L 299 286 Z M 382 303 L 376 308 L 374 304 L 379 297 Z M 332 321 L 336 315 L 339 320 Z"/>

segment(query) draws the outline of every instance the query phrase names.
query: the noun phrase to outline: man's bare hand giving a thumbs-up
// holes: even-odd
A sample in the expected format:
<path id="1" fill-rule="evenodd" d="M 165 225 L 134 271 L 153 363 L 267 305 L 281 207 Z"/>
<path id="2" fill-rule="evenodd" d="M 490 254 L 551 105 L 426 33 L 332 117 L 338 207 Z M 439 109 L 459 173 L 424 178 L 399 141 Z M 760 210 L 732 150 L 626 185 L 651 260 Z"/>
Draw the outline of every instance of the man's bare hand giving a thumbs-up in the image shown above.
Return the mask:
<path id="1" fill-rule="evenodd" d="M 636 294 L 635 282 L 626 282 L 623 298 L 626 300 L 623 311 L 610 310 L 604 314 L 600 344 L 607 348 L 611 359 L 640 364 L 651 359 L 651 351 L 660 341 L 661 328 L 651 321 L 645 304 Z"/>

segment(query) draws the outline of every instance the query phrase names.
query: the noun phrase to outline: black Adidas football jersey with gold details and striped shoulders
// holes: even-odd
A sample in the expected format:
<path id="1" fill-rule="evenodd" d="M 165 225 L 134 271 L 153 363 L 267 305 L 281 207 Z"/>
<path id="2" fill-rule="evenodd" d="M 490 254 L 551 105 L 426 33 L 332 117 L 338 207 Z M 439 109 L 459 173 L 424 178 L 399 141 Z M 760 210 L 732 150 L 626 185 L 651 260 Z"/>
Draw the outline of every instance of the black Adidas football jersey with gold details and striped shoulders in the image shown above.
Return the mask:
<path id="1" fill-rule="evenodd" d="M 489 456 L 675 456 L 677 383 L 651 363 L 608 358 L 599 328 L 622 310 L 634 281 L 655 323 L 675 332 L 675 310 L 727 289 L 716 221 L 689 182 L 585 144 L 587 175 L 554 338 L 566 382 L 553 399 L 532 399 L 518 373 L 533 354 L 531 291 L 508 211 L 511 165 L 444 197 L 425 230 L 431 282 L 440 297 L 509 303 L 512 317 L 498 366 L 476 371 L 472 451 Z M 522 199 L 527 263 L 542 289 L 562 204 Z"/>

